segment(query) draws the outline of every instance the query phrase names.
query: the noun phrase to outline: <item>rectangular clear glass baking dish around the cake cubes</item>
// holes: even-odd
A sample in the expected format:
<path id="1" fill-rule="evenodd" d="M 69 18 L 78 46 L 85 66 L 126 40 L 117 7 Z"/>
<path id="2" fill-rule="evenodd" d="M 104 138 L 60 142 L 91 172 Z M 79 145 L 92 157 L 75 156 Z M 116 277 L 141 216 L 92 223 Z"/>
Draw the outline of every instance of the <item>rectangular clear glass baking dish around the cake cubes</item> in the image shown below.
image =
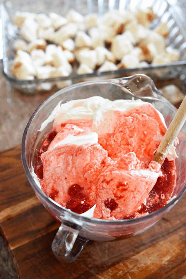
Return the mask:
<path id="1" fill-rule="evenodd" d="M 174 47 L 181 51 L 180 61 L 171 62 L 170 64 L 149 65 L 142 68 L 118 69 L 115 71 L 102 73 L 94 72 L 83 75 L 78 75 L 73 72 L 68 77 L 47 79 L 35 78 L 32 81 L 18 80 L 14 77 L 13 73 L 11 73 L 11 64 L 15 57 L 13 45 L 15 40 L 20 38 L 19 30 L 14 25 L 13 20 L 16 11 L 45 14 L 53 11 L 65 16 L 69 9 L 73 8 L 82 15 L 98 13 L 101 18 L 109 10 L 124 11 L 130 8 L 131 11 L 135 11 L 138 7 L 143 8 L 146 6 L 152 7 L 153 12 L 157 15 L 157 18 L 151 23 L 151 29 L 155 28 L 160 21 L 167 21 L 169 36 L 165 39 L 166 45 L 167 47 Z M 11 85 L 27 94 L 34 94 L 39 90 L 49 90 L 51 88 L 53 91 L 57 91 L 59 88 L 67 85 L 91 79 L 121 78 L 130 76 L 130 73 L 143 73 L 149 75 L 153 79 L 175 78 L 178 76 L 182 76 L 182 81 L 185 79 L 183 73 L 183 69 L 186 66 L 186 34 L 183 26 L 184 12 L 178 5 L 170 5 L 166 0 L 40 0 L 39 2 L 36 0 L 25 0 L 24 2 L 22 0 L 5 0 L 0 5 L 0 17 L 2 19 L 3 41 L 2 73 Z"/>

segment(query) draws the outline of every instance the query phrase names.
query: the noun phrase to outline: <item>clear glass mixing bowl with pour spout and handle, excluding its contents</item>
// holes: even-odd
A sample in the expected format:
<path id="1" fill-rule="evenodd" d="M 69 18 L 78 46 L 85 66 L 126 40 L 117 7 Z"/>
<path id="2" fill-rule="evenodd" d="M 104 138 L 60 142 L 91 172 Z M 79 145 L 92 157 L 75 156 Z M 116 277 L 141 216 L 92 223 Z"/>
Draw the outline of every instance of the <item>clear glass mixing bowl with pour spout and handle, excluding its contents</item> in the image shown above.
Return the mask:
<path id="1" fill-rule="evenodd" d="M 37 162 L 43 140 L 52 130 L 53 120 L 51 119 L 51 122 L 42 132 L 38 131 L 41 124 L 49 117 L 60 101 L 65 103 L 95 95 L 110 100 L 139 98 L 149 102 L 163 114 L 167 126 L 170 125 L 176 113 L 175 107 L 157 91 L 150 78 L 145 75 L 133 75 L 121 79 L 81 82 L 66 87 L 44 101 L 30 117 L 21 146 L 24 170 L 38 199 L 60 223 L 60 228 L 52 243 L 52 250 L 57 259 L 68 263 L 73 262 L 78 257 L 88 240 L 115 241 L 144 232 L 161 219 L 179 201 L 186 190 L 186 126 L 184 125 L 178 136 L 179 144 L 176 146 L 176 153 L 179 157 L 175 159 L 177 179 L 172 195 L 174 198 L 166 206 L 149 215 L 118 221 L 84 217 L 60 206 L 42 192 L 33 179 L 32 166 L 34 167 Z"/>

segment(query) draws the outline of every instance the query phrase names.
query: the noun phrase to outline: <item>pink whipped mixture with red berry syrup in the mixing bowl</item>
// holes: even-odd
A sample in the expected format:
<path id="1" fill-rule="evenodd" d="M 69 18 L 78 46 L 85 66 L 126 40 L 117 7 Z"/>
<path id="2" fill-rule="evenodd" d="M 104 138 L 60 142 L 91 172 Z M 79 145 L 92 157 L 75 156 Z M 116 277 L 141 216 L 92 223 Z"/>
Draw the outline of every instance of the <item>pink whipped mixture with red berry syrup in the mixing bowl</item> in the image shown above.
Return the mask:
<path id="1" fill-rule="evenodd" d="M 175 163 L 166 159 L 159 176 L 160 165 L 152 161 L 166 132 L 152 105 L 107 111 L 99 123 L 60 119 L 43 142 L 35 169 L 47 196 L 79 214 L 96 204 L 93 217 L 108 220 L 136 218 L 166 205 Z M 69 135 L 92 132 L 98 143 L 68 144 Z"/>

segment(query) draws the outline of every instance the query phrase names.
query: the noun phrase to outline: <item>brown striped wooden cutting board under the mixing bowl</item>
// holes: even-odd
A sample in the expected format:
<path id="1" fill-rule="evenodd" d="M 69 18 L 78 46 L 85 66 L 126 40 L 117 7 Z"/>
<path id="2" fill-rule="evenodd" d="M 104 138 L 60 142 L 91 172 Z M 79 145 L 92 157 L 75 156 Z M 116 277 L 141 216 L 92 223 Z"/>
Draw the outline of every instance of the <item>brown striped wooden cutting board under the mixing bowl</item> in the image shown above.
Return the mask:
<path id="1" fill-rule="evenodd" d="M 35 196 L 20 146 L 0 154 L 0 229 L 20 279 L 186 278 L 186 195 L 152 228 L 116 242 L 89 241 L 74 263 L 51 251 L 59 225 Z"/>

